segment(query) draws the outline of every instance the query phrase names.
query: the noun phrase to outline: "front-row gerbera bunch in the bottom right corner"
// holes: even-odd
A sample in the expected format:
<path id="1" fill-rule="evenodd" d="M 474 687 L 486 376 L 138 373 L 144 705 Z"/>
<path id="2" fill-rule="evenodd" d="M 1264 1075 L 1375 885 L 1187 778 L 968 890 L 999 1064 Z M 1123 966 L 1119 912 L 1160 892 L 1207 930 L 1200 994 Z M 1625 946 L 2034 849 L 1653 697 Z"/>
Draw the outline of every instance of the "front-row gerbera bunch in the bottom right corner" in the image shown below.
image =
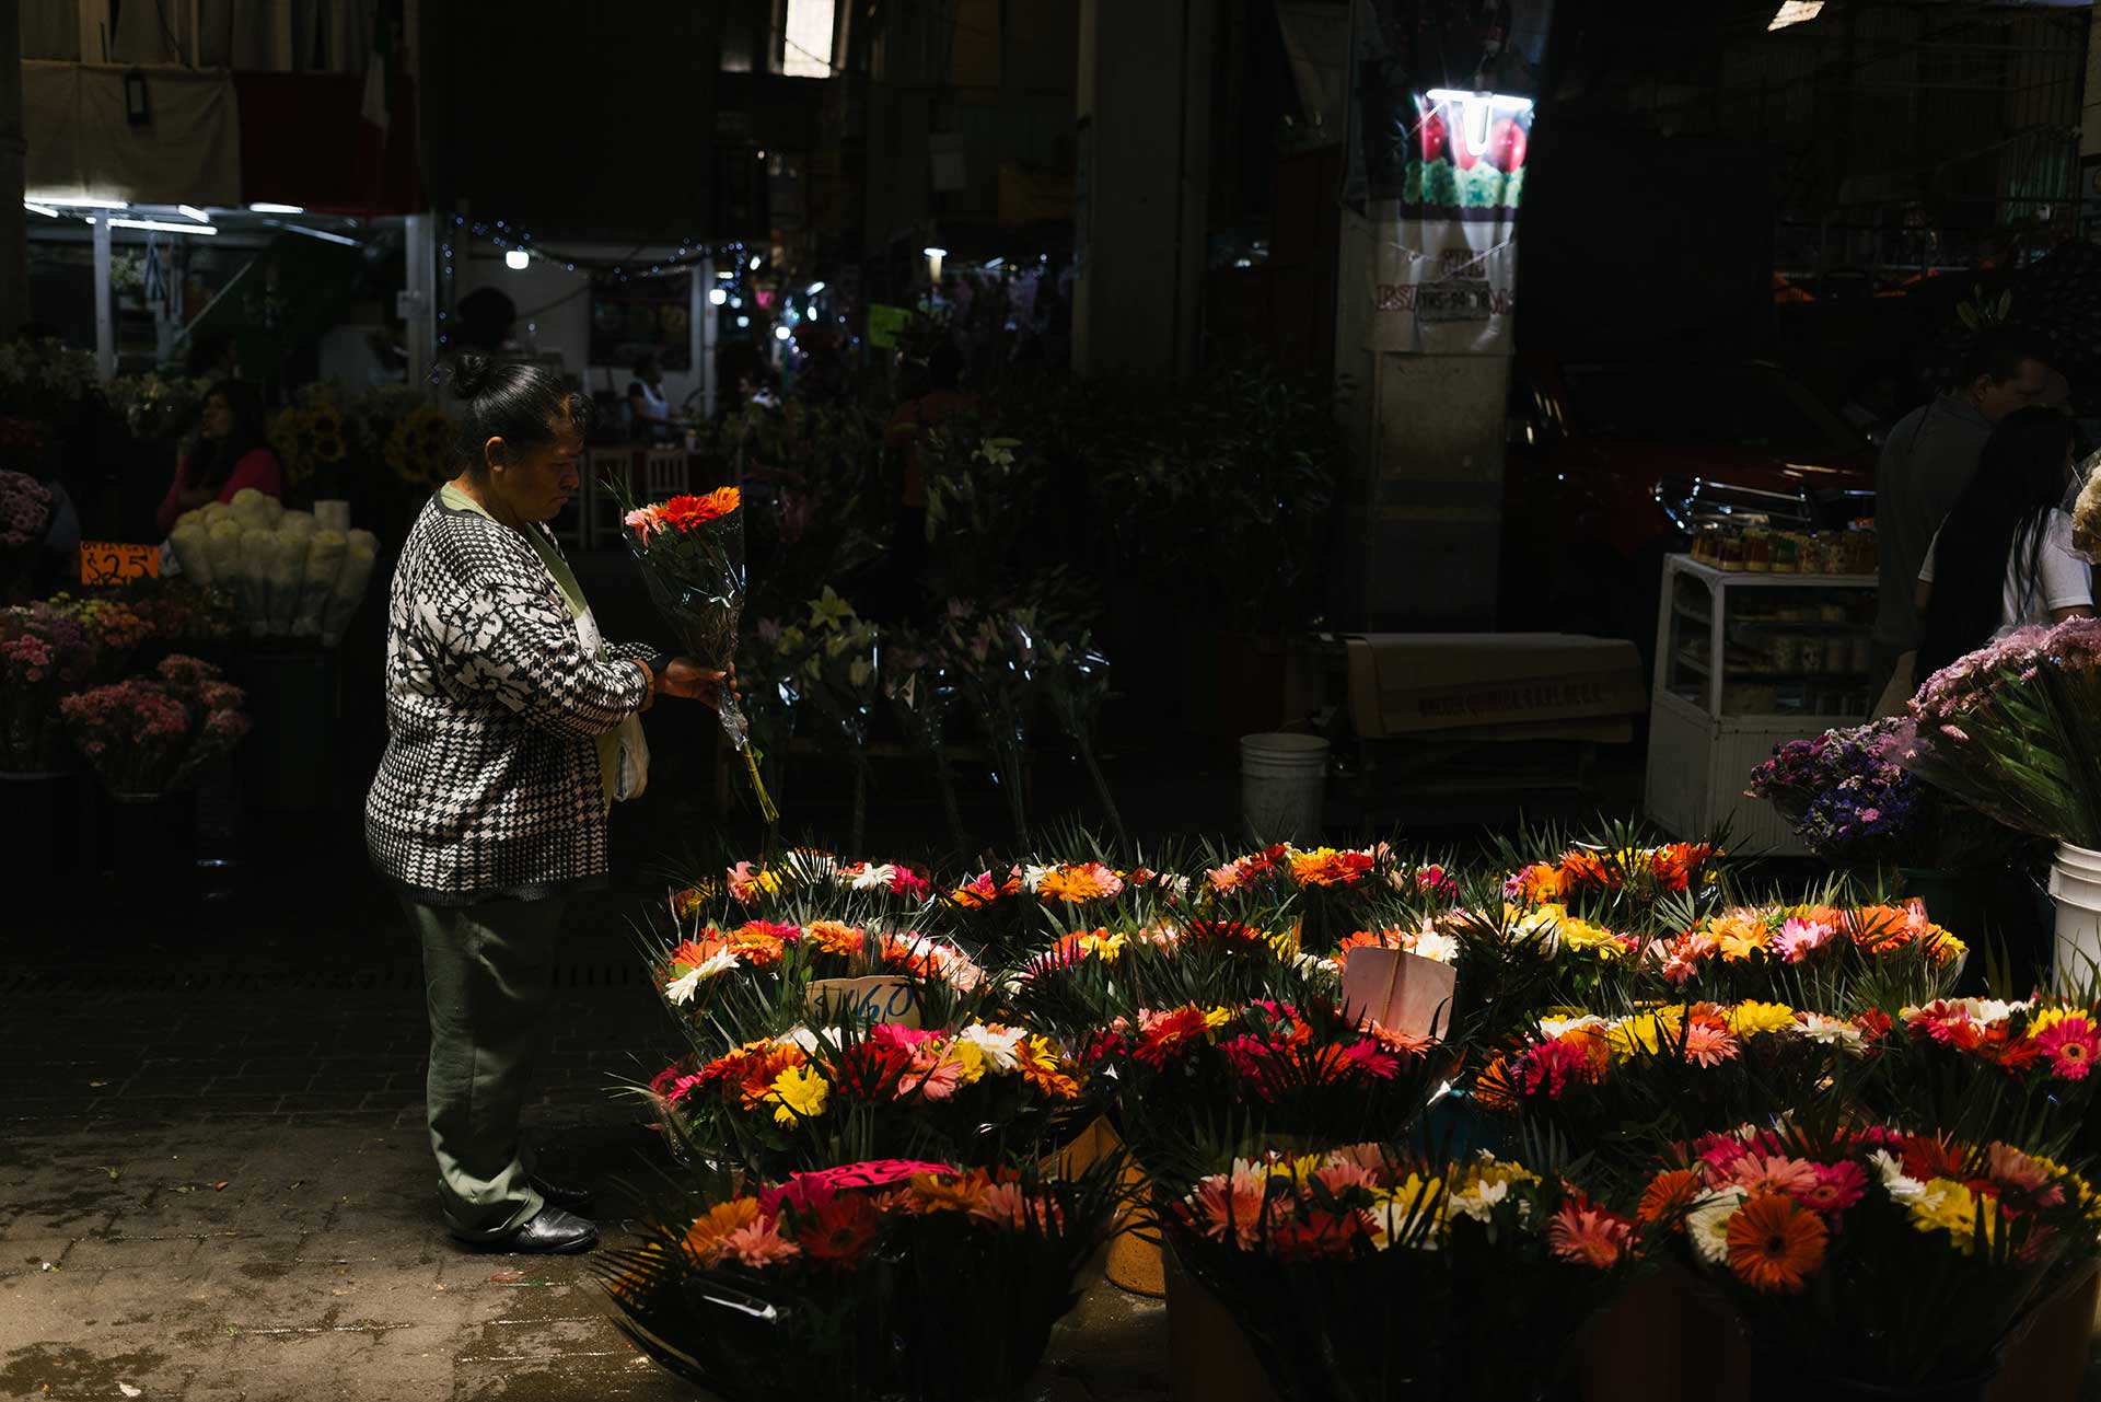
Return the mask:
<path id="1" fill-rule="evenodd" d="M 1643 1202 L 1742 1312 L 1750 1396 L 1983 1398 L 2097 1251 L 2095 1194 L 2051 1158 L 1872 1125 L 1708 1135 Z"/>

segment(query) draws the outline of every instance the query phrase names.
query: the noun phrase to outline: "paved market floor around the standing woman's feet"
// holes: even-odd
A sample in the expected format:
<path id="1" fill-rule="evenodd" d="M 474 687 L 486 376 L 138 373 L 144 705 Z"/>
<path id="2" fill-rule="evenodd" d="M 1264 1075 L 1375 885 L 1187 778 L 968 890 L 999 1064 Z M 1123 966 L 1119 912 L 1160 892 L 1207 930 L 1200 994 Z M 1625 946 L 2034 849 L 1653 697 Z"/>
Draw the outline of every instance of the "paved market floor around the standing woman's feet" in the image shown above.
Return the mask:
<path id="1" fill-rule="evenodd" d="M 653 1070 L 662 1013 L 605 961 L 567 973 L 532 1122 L 618 1242 L 616 1179 L 658 1146 L 607 1085 Z M 0 980 L 0 1398 L 691 1398 L 611 1326 L 590 1257 L 445 1240 L 420 996 L 378 935 Z M 1053 1347 L 1042 1402 L 1166 1396 L 1158 1305 L 1101 1286 Z"/>

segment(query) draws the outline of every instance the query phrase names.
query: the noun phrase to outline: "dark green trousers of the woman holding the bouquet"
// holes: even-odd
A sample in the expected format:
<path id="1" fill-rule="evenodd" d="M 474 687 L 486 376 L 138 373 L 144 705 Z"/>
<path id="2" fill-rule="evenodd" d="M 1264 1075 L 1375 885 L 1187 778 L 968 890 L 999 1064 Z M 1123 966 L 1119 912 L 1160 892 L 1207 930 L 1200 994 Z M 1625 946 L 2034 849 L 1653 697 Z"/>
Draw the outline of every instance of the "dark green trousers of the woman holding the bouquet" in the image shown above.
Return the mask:
<path id="1" fill-rule="evenodd" d="M 422 935 L 431 1001 L 424 1083 L 437 1198 L 460 1238 L 502 1236 L 540 1211 L 519 1114 L 550 1005 L 561 898 L 427 906 L 401 898 Z"/>

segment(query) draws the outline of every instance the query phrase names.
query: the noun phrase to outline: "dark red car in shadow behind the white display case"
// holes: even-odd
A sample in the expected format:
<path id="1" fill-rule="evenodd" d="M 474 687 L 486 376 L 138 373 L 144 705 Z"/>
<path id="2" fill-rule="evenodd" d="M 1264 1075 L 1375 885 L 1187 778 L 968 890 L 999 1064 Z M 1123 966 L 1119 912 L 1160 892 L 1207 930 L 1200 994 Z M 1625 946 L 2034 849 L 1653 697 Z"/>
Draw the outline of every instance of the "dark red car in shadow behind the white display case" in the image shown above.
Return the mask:
<path id="1" fill-rule="evenodd" d="M 1777 366 L 1519 362 L 1504 460 L 1502 624 L 1656 641 L 1662 561 L 1702 519 L 1874 515 L 1874 448 Z"/>

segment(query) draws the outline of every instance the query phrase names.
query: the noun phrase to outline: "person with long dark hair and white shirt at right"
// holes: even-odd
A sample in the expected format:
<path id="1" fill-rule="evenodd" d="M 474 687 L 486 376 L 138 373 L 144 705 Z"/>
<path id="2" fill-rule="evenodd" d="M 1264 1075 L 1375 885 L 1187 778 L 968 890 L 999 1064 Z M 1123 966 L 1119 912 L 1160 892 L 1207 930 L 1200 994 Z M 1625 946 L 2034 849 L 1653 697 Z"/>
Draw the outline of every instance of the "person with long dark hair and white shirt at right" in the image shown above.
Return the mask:
<path id="1" fill-rule="evenodd" d="M 2040 406 L 1992 429 L 1918 568 L 1920 679 L 2004 628 L 2095 616 L 2093 568 L 2074 553 L 2063 511 L 2072 433 L 2069 418 Z"/>

